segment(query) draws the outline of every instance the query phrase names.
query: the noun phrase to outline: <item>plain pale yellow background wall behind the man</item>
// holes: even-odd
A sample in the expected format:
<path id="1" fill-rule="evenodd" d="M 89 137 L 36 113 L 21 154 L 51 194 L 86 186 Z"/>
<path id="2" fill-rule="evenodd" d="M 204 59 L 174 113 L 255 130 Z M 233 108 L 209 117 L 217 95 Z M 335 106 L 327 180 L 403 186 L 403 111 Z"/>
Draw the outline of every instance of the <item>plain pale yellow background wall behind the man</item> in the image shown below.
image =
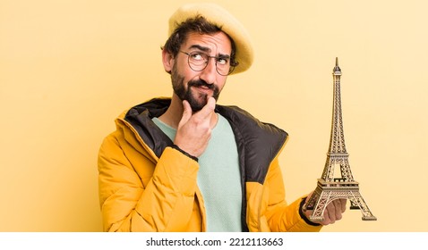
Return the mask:
<path id="1" fill-rule="evenodd" d="M 171 96 L 159 46 L 186 2 L 0 1 L 0 231 L 102 229 L 98 146 L 120 112 Z M 323 231 L 426 230 L 428 2 L 215 2 L 256 53 L 218 103 L 290 134 L 287 201 L 321 176 L 338 56 L 349 161 L 378 221 L 347 211 Z"/>

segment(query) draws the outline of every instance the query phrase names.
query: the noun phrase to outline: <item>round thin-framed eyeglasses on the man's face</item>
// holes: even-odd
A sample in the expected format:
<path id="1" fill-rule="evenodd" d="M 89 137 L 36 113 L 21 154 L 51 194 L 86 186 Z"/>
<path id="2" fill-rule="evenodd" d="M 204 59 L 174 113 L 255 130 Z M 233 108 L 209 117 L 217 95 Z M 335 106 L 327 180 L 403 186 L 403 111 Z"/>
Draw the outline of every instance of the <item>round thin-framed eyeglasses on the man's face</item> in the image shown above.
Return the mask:
<path id="1" fill-rule="evenodd" d="M 200 51 L 193 51 L 191 53 L 187 53 L 184 51 L 180 52 L 188 55 L 187 63 L 189 63 L 189 67 L 193 71 L 205 70 L 205 68 L 207 68 L 210 58 L 214 58 L 216 60 L 216 71 L 221 76 L 227 76 L 235 70 L 236 64 L 231 64 L 230 56 L 228 55 L 211 56 Z"/>

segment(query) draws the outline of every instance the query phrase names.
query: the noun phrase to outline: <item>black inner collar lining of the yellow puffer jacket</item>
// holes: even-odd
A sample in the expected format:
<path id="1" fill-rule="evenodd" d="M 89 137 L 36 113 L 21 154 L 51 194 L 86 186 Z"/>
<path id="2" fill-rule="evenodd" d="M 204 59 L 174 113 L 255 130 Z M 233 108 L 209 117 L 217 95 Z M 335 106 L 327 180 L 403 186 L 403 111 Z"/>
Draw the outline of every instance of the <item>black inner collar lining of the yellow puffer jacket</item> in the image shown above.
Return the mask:
<path id="1" fill-rule="evenodd" d="M 126 112 L 124 120 L 129 122 L 144 143 L 160 157 L 173 142 L 151 121 L 167 111 L 170 98 L 154 98 Z M 270 162 L 278 156 L 287 140 L 287 132 L 257 120 L 249 112 L 236 106 L 216 105 L 216 112 L 229 121 L 239 153 L 239 162 L 245 181 L 263 183 Z"/>

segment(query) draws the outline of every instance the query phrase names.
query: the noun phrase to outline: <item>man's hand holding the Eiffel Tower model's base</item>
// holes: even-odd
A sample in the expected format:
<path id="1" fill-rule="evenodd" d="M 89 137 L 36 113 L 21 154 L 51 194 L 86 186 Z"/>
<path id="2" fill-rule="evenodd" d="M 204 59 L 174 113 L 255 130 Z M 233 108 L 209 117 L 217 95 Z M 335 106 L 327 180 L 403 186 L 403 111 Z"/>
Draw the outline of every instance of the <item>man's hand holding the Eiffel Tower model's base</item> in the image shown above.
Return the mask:
<path id="1" fill-rule="evenodd" d="M 309 201 L 309 198 L 312 196 L 313 192 L 306 197 L 306 201 Z M 347 199 L 339 198 L 336 200 L 331 201 L 329 204 L 327 204 L 327 207 L 324 210 L 323 214 L 323 220 L 322 221 L 312 221 L 309 216 L 312 214 L 312 210 L 306 210 L 304 211 L 304 215 L 306 215 L 306 218 L 309 221 L 320 223 L 323 226 L 327 226 L 329 224 L 333 224 L 336 221 L 339 221 L 342 219 L 342 213 L 347 210 Z"/>

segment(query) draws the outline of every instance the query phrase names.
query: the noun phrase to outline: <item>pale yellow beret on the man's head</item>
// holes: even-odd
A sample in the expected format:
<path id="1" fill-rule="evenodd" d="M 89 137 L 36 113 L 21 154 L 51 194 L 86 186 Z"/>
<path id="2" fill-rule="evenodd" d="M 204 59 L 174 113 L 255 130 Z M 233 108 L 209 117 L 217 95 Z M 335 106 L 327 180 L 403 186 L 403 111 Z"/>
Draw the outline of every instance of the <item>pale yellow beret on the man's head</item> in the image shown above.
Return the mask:
<path id="1" fill-rule="evenodd" d="M 253 64 L 254 56 L 250 36 L 244 29 L 244 26 L 232 14 L 217 4 L 185 4 L 178 8 L 169 18 L 168 37 L 171 36 L 182 22 L 198 15 L 203 16 L 210 23 L 218 26 L 218 28 L 234 40 L 236 47 L 235 61 L 239 64 L 235 67 L 232 74 L 248 70 Z"/>

